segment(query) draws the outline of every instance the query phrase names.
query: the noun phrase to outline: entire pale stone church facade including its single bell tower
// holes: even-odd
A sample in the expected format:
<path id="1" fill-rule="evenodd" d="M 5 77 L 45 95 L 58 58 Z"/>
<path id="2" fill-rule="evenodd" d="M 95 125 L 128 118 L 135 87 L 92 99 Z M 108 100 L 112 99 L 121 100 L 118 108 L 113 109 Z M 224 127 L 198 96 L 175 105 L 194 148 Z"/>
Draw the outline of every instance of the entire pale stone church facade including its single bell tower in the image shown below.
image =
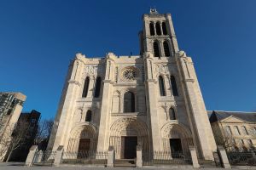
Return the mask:
<path id="1" fill-rule="evenodd" d="M 70 63 L 48 150 L 108 150 L 116 159 L 154 151 L 213 160 L 212 128 L 192 59 L 177 45 L 171 14 L 143 15 L 140 55 L 86 58 Z"/>

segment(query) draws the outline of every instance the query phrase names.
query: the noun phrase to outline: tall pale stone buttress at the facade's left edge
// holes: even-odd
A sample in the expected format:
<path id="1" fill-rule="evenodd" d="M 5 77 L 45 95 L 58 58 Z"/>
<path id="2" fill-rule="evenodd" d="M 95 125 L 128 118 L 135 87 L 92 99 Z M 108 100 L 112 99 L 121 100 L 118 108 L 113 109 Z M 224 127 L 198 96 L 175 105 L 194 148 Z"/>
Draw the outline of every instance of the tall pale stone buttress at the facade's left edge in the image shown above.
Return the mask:
<path id="1" fill-rule="evenodd" d="M 81 98 L 81 81 L 84 71 L 85 56 L 76 54 L 69 65 L 64 88 L 62 90 L 55 123 L 52 128 L 47 150 L 56 150 L 64 145 L 69 138 L 73 114 L 76 109 L 76 99 Z"/>

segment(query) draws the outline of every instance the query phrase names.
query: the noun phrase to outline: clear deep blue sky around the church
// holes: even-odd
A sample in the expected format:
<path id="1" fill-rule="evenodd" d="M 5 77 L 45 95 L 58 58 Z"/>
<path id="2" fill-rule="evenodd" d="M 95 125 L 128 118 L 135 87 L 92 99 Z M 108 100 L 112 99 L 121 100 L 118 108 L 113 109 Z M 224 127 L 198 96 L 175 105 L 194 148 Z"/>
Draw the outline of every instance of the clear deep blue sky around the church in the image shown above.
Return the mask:
<path id="1" fill-rule="evenodd" d="M 172 14 L 207 110 L 256 111 L 255 0 L 2 0 L 0 91 L 26 94 L 23 111 L 54 117 L 74 54 L 138 54 L 150 7 Z"/>

